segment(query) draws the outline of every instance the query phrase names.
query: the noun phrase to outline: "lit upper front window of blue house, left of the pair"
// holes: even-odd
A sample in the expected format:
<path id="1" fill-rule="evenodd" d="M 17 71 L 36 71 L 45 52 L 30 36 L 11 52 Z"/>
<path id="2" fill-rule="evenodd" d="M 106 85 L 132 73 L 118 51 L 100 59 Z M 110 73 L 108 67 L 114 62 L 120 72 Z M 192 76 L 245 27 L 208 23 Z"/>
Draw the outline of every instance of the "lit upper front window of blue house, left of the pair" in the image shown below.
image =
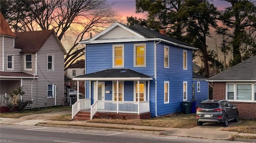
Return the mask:
<path id="1" fill-rule="evenodd" d="M 113 45 L 113 67 L 124 67 L 124 45 Z"/>

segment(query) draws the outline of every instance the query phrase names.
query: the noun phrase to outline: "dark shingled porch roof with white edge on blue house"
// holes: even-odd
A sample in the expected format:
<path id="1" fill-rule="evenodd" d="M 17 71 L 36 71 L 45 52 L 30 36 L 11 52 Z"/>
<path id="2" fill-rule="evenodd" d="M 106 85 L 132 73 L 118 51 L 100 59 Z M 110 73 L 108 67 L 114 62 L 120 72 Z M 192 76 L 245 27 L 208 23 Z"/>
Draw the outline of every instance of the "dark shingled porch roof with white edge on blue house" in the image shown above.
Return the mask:
<path id="1" fill-rule="evenodd" d="M 147 76 L 140 72 L 130 69 L 106 69 L 103 71 L 93 72 L 76 76 L 73 80 L 152 80 L 151 76 Z"/>

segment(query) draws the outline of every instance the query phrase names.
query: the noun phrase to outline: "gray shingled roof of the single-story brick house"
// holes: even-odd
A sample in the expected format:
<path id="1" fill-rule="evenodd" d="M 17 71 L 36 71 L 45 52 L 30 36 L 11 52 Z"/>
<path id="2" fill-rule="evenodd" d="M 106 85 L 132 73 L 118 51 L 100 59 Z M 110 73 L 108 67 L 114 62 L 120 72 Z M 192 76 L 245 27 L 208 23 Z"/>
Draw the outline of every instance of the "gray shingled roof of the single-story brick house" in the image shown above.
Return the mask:
<path id="1" fill-rule="evenodd" d="M 256 80 L 256 56 L 212 76 L 209 80 Z"/>

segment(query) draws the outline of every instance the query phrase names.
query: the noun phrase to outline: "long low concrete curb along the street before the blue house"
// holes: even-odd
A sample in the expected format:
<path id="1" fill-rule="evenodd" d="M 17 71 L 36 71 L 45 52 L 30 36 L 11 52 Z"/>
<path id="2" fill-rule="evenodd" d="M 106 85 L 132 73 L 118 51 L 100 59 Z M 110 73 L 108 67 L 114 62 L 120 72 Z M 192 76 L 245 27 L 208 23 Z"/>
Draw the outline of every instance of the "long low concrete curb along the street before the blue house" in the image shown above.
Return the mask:
<path id="1" fill-rule="evenodd" d="M 68 127 L 68 128 L 76 128 L 76 129 L 91 129 L 91 130 L 100 130 L 100 131 L 120 131 L 127 133 L 145 133 L 145 134 L 154 134 L 158 135 L 161 131 L 144 131 L 144 130 L 132 130 L 132 129 L 113 129 L 113 128 L 103 128 L 103 127 L 84 127 L 84 126 L 76 126 L 76 125 L 54 125 L 54 124 L 43 124 L 38 123 L 36 126 L 44 126 L 44 127 Z"/>

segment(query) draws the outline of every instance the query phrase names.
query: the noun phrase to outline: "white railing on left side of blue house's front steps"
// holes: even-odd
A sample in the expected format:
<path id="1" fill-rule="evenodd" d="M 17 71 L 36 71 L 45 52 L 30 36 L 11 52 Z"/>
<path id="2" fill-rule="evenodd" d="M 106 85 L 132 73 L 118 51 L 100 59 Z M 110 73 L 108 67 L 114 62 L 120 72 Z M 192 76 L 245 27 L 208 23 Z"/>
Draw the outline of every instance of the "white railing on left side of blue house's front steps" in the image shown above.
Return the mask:
<path id="1" fill-rule="evenodd" d="M 72 105 L 72 119 L 80 110 L 90 109 L 91 99 L 84 98 L 79 99 L 75 104 Z"/>

